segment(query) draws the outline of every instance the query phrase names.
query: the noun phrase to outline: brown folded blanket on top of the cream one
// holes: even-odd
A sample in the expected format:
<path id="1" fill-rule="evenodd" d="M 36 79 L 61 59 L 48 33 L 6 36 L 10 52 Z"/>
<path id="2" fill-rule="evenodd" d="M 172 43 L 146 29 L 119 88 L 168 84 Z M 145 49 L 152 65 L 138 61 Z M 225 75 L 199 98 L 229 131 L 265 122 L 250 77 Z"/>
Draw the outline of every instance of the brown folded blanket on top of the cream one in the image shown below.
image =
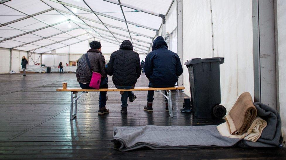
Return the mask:
<path id="1" fill-rule="evenodd" d="M 257 110 L 252 103 L 250 93 L 245 92 L 239 96 L 234 106 L 226 117 L 229 129 L 232 135 L 241 135 L 245 133 L 257 115 Z"/>

